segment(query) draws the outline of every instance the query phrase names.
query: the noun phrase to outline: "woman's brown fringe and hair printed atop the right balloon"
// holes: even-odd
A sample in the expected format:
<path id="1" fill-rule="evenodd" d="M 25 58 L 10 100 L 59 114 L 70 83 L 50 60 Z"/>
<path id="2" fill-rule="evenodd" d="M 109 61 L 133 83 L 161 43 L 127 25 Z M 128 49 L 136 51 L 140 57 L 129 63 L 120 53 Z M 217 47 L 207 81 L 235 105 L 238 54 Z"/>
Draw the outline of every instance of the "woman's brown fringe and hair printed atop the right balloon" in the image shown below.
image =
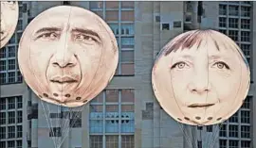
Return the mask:
<path id="1" fill-rule="evenodd" d="M 177 50 L 191 49 L 194 45 L 197 45 L 197 48 L 199 48 L 203 41 L 205 42 L 209 39 L 214 42 L 215 47 L 218 51 L 225 49 L 236 50 L 241 58 L 243 58 L 248 67 L 247 58 L 244 56 L 240 47 L 228 36 L 210 29 L 192 30 L 178 35 L 163 47 L 158 58 L 162 56 L 168 56 L 170 53 Z M 225 49 L 221 49 L 223 47 Z"/>

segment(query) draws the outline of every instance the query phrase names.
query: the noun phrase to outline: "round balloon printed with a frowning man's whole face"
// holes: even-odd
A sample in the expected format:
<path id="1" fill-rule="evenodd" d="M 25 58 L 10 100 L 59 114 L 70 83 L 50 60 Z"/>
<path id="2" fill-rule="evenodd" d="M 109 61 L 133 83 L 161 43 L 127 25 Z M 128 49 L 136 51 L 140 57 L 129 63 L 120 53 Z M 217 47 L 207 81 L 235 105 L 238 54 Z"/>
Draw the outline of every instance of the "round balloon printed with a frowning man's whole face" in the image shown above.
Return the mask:
<path id="1" fill-rule="evenodd" d="M 118 44 L 95 13 L 60 6 L 27 25 L 18 51 L 27 85 L 44 101 L 79 107 L 103 90 L 116 72 Z"/>

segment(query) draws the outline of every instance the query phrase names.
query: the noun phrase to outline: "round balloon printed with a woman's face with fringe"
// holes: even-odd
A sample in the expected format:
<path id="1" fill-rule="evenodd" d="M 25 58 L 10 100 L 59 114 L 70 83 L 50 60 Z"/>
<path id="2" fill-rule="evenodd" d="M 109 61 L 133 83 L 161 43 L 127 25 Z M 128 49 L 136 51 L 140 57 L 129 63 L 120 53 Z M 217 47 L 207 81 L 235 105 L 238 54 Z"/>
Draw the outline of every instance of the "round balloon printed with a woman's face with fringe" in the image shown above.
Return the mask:
<path id="1" fill-rule="evenodd" d="M 155 59 L 152 83 L 160 106 L 180 123 L 229 119 L 249 89 L 247 58 L 226 35 L 192 30 L 169 41 Z"/>

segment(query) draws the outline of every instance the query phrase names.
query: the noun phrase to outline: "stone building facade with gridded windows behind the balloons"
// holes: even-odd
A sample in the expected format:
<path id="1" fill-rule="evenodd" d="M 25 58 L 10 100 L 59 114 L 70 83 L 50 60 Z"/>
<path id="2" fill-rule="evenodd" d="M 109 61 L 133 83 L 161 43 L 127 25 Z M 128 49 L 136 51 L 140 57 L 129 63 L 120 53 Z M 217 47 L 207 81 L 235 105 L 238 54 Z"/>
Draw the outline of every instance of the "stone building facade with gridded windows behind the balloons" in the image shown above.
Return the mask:
<path id="1" fill-rule="evenodd" d="M 98 14 L 119 44 L 119 66 L 111 83 L 90 103 L 75 109 L 40 101 L 23 81 L 17 61 L 18 42 L 29 22 L 47 8 L 61 5 Z M 0 50 L 0 148 L 256 147 L 256 2 L 24 1 L 19 6 L 15 34 Z M 251 69 L 243 107 L 229 121 L 214 126 L 175 122 L 152 90 L 151 71 L 160 49 L 195 28 L 229 35 L 244 51 Z"/>

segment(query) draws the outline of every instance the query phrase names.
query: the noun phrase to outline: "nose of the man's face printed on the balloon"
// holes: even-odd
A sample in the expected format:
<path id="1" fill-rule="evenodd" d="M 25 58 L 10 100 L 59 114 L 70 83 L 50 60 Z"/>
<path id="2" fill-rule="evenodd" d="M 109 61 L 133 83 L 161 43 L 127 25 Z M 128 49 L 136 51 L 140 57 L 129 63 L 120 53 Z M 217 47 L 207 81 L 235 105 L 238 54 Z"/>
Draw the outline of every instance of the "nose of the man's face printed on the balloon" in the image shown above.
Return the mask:
<path id="1" fill-rule="evenodd" d="M 56 52 L 53 55 L 52 65 L 60 68 L 73 67 L 77 64 L 76 55 L 70 50 L 68 43 L 58 45 Z"/>

